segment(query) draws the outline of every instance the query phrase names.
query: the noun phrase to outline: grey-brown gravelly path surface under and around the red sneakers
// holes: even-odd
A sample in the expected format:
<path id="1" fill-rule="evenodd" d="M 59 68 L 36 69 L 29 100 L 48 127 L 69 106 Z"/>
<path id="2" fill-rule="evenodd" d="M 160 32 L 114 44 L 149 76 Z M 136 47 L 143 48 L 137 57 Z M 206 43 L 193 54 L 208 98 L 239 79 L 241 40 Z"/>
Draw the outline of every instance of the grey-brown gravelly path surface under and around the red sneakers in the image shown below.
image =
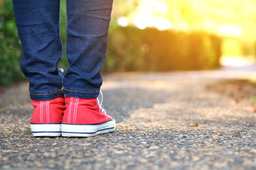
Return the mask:
<path id="1" fill-rule="evenodd" d="M 106 75 L 104 107 L 116 131 L 92 138 L 34 138 L 28 83 L 14 85 L 0 96 L 0 169 L 256 169 L 252 104 L 216 92 L 221 81 L 253 75 Z"/>

